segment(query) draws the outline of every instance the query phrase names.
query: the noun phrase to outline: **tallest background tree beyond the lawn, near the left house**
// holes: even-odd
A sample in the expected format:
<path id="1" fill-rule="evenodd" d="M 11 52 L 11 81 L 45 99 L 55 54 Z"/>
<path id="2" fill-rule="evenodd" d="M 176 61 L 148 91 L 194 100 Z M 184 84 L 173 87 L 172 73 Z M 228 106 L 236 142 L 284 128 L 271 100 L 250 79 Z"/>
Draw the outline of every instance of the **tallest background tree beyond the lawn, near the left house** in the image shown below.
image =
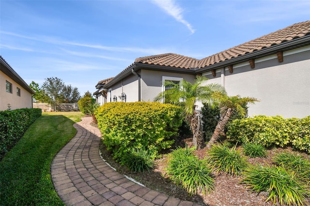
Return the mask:
<path id="1" fill-rule="evenodd" d="M 61 102 L 62 89 L 65 87 L 62 79 L 57 77 L 46 78 L 42 85 L 42 89 L 46 91 L 48 96 L 48 103 L 53 105 L 56 111 L 56 104 Z"/>

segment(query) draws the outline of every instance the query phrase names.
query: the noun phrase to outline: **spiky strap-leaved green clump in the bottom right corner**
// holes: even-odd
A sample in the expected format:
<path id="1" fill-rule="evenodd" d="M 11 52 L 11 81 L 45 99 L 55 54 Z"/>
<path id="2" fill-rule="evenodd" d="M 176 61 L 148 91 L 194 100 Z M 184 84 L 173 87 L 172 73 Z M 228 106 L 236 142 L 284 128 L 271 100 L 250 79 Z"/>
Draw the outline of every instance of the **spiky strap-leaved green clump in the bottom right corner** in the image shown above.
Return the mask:
<path id="1" fill-rule="evenodd" d="M 303 205 L 307 196 L 304 185 L 296 179 L 294 173 L 287 172 L 285 168 L 272 167 L 250 167 L 243 173 L 243 183 L 248 189 L 261 192 L 268 191 L 266 202 L 271 200 L 275 204 L 277 199 L 280 205 Z"/>

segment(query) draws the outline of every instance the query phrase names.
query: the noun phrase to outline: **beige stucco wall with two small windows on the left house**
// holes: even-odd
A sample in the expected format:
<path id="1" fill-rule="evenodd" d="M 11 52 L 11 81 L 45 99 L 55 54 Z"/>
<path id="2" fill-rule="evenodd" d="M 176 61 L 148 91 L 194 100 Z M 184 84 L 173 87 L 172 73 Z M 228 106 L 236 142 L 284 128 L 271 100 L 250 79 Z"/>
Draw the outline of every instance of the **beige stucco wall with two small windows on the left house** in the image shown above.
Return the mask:
<path id="1" fill-rule="evenodd" d="M 6 91 L 5 81 L 12 84 L 12 93 Z M 16 94 L 17 87 L 20 88 L 20 96 Z M 11 109 L 32 108 L 31 93 L 0 71 L 0 110 L 8 109 L 8 104 L 11 104 Z"/>

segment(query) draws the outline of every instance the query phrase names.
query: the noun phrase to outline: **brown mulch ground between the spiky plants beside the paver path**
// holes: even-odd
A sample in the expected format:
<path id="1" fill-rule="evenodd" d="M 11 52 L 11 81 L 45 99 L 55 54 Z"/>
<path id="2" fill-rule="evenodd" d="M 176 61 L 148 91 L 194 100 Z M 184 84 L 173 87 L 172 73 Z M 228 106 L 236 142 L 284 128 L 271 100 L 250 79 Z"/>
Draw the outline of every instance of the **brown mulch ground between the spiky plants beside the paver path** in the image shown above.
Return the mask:
<path id="1" fill-rule="evenodd" d="M 93 126 L 96 126 L 93 124 Z M 187 137 L 182 141 L 178 142 L 175 147 L 191 147 L 192 138 Z M 174 147 L 174 148 L 175 148 Z M 242 147 L 238 147 L 242 149 Z M 195 154 L 203 159 L 206 155 L 207 148 L 200 150 L 195 150 Z M 163 155 L 161 159 L 155 161 L 155 168 L 149 172 L 136 173 L 129 171 L 125 166 L 120 165 L 115 162 L 111 157 L 111 153 L 107 151 L 106 147 L 101 144 L 100 151 L 102 157 L 111 164 L 117 171 L 128 177 L 134 178 L 136 181 L 142 183 L 143 185 L 160 192 L 164 192 L 170 196 L 180 198 L 181 200 L 192 201 L 201 205 L 206 206 L 279 206 L 279 203 L 273 204 L 271 201 L 265 202 L 268 197 L 267 192 L 251 192 L 246 189 L 244 184 L 241 184 L 241 177 L 227 176 L 225 174 L 220 174 L 215 176 L 215 191 L 211 194 L 189 196 L 189 194 L 182 189 L 182 187 L 175 185 L 169 180 L 166 175 L 165 168 L 167 167 L 168 158 L 167 155 Z M 272 157 L 280 152 L 291 152 L 295 153 L 292 148 L 272 148 L 267 150 L 266 158 L 248 158 L 248 162 L 251 164 L 272 164 Z M 307 159 L 310 155 L 301 153 Z M 306 205 L 310 206 L 310 198 L 306 200 Z"/>

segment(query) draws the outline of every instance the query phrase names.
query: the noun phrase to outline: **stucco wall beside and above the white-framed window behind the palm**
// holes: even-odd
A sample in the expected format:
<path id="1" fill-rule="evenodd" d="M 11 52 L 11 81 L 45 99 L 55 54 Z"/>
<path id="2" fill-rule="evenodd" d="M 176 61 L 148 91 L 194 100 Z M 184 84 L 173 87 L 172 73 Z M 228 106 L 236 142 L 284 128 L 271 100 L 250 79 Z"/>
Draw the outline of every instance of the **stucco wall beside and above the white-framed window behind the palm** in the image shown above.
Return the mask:
<path id="1" fill-rule="evenodd" d="M 162 78 L 178 77 L 186 81 L 192 82 L 195 75 L 192 74 L 177 74 L 170 72 L 159 72 L 152 70 L 141 70 L 141 101 L 153 102 L 155 96 L 162 92 Z"/>

